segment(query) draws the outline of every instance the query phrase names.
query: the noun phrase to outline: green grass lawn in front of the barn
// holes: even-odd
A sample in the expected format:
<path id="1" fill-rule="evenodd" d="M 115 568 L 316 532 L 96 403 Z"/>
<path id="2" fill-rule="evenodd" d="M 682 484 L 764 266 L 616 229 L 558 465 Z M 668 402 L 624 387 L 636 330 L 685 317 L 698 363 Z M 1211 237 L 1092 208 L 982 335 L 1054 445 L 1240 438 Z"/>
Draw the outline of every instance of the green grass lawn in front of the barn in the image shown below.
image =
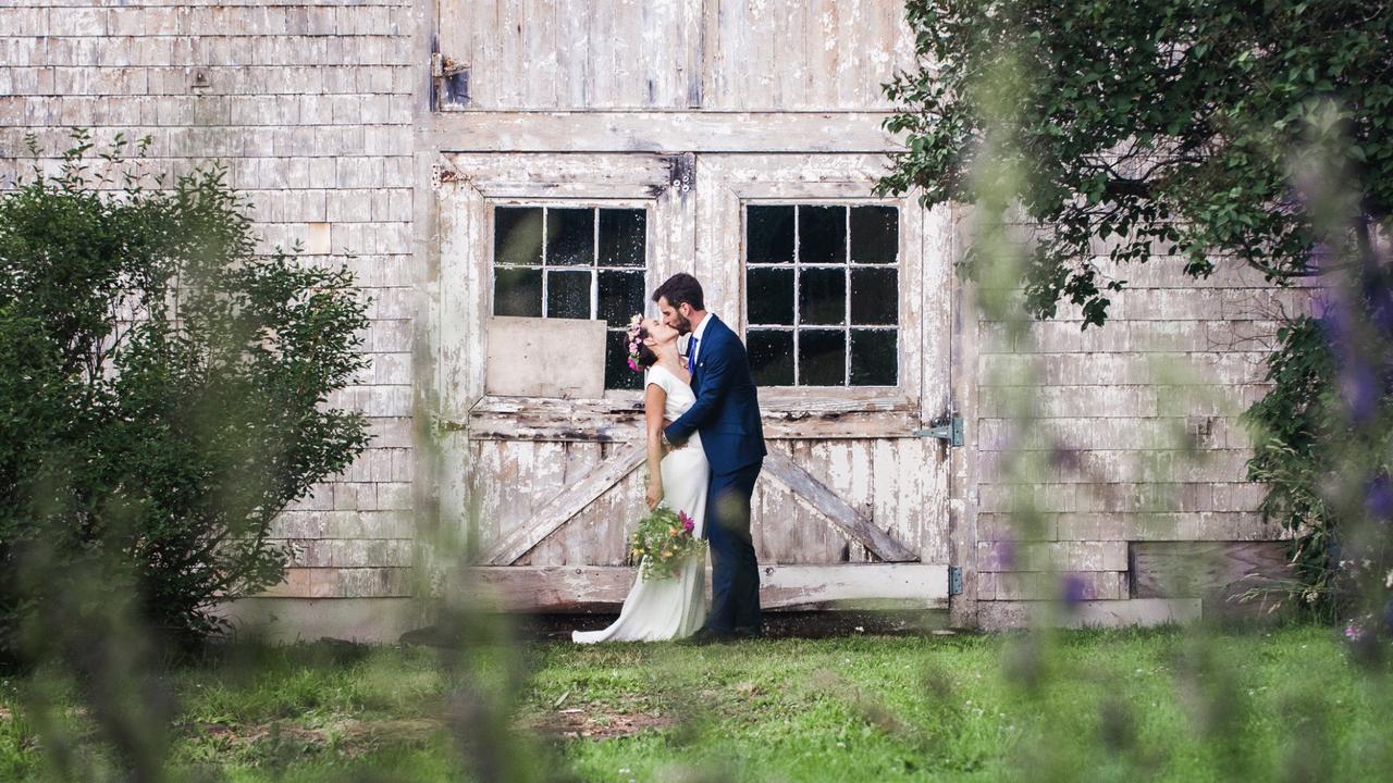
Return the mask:
<path id="1" fill-rule="evenodd" d="M 521 665 L 520 687 L 503 684 L 508 663 Z M 504 766 L 514 779 L 621 782 L 1373 780 L 1393 769 L 1389 676 L 1304 626 L 1082 631 L 1043 645 L 534 642 L 465 672 L 451 679 L 429 648 L 334 645 L 182 667 L 167 676 L 180 704 L 170 766 L 233 782 L 500 777 L 490 762 L 517 765 Z M 482 684 L 476 698 L 451 690 L 461 681 Z M 0 780 L 45 779 L 39 716 L 20 695 L 31 684 L 0 680 Z M 59 692 L 57 724 L 93 737 L 72 685 Z M 500 723 L 515 731 L 492 731 L 497 697 L 515 699 Z"/>

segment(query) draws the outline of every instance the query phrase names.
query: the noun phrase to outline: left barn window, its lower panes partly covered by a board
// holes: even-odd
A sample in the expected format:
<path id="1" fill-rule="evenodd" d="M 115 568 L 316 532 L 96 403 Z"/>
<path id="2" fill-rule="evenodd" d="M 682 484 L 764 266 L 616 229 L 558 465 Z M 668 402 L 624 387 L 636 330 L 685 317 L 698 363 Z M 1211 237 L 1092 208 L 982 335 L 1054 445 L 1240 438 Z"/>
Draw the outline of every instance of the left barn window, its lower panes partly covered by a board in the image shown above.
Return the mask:
<path id="1" fill-rule="evenodd" d="M 644 312 L 644 209 L 493 209 L 493 315 L 603 319 L 605 387 L 639 389 L 624 357 L 624 327 Z"/>

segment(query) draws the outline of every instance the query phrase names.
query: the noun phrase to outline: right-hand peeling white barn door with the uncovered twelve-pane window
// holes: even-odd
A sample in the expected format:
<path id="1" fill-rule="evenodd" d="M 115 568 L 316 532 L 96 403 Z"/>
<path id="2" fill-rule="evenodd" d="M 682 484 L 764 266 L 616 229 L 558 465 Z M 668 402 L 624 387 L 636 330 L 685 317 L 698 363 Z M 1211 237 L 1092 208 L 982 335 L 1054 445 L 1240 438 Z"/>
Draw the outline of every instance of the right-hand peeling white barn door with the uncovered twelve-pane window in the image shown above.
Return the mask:
<path id="1" fill-rule="evenodd" d="M 915 432 L 946 408 L 946 259 L 926 258 L 914 198 L 872 195 L 883 166 L 878 155 L 698 156 L 698 276 L 738 325 L 761 387 L 761 560 L 866 581 L 865 596 L 936 599 L 947 595 L 947 453 Z"/>

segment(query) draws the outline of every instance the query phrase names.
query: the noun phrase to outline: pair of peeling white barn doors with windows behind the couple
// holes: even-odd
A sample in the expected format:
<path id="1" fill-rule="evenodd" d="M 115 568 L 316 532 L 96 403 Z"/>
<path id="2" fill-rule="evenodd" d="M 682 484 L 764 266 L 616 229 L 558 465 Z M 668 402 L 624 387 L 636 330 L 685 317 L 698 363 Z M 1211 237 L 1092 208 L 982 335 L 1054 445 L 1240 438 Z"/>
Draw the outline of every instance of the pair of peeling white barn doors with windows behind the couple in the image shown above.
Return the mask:
<path id="1" fill-rule="evenodd" d="M 659 281 L 691 270 L 745 337 L 762 386 L 770 456 L 754 535 L 765 606 L 946 599 L 944 450 L 914 432 L 946 400 L 947 312 L 926 280 L 919 208 L 871 196 L 880 166 L 846 155 L 446 156 L 442 489 L 447 517 L 476 510 L 481 574 L 500 598 L 547 610 L 623 600 L 642 410 L 637 378 L 616 372 L 618 329 L 653 312 Z M 490 393 L 499 316 L 538 330 L 603 320 L 613 355 L 593 364 L 605 390 Z"/>

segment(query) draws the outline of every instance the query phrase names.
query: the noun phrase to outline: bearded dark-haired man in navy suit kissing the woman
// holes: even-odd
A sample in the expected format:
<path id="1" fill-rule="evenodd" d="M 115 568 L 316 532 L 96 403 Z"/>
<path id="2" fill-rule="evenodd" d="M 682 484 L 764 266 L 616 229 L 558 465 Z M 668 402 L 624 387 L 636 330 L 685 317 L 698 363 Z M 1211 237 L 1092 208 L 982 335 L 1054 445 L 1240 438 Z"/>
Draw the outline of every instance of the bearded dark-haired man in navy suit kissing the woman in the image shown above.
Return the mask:
<path id="1" fill-rule="evenodd" d="M 749 496 L 765 458 L 759 398 L 749 359 L 740 337 L 706 312 L 701 283 L 673 274 L 653 291 L 663 323 L 691 334 L 687 362 L 696 401 L 663 431 L 663 443 L 680 447 L 701 433 L 710 464 L 706 489 L 706 538 L 710 542 L 712 602 L 706 624 L 694 644 L 756 638 L 759 624 L 759 566 L 749 536 Z"/>

